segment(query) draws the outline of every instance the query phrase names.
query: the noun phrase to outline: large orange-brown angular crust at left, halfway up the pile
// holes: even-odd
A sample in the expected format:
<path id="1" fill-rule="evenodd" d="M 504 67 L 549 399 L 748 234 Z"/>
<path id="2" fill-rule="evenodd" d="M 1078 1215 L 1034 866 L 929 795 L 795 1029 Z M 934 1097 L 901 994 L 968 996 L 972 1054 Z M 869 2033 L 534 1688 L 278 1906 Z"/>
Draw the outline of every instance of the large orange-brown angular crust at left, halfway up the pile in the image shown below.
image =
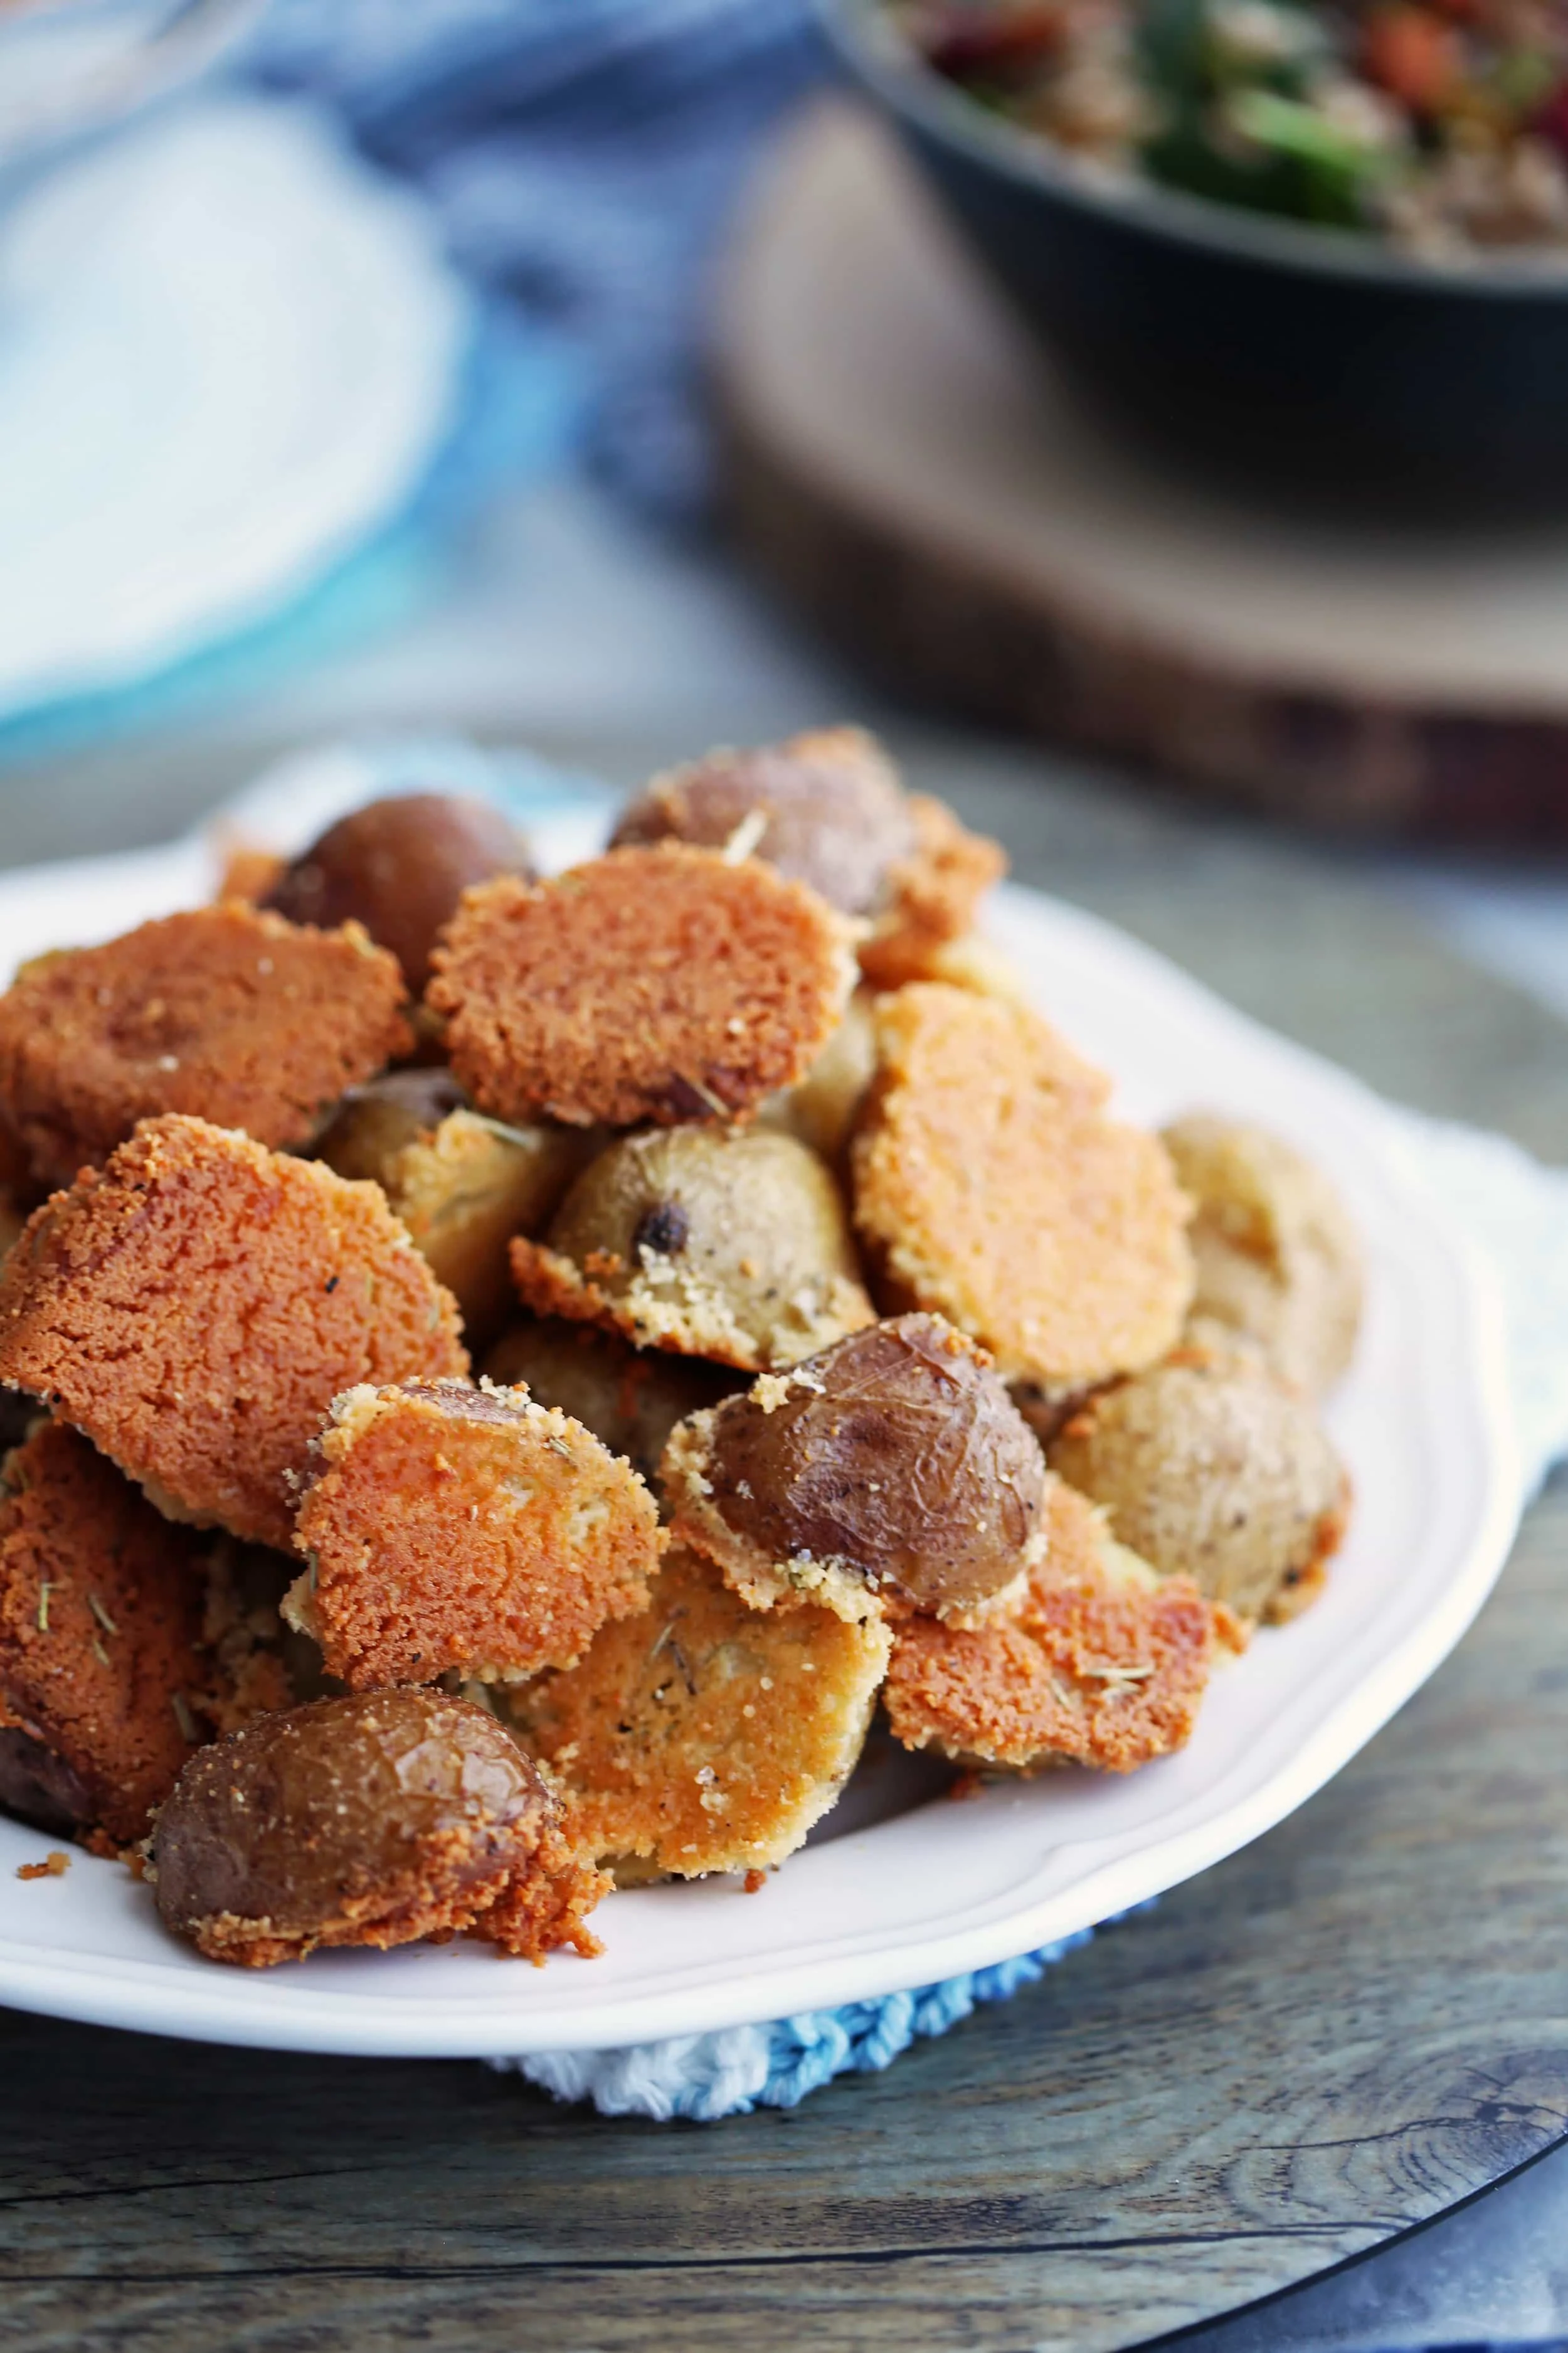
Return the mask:
<path id="1" fill-rule="evenodd" d="M 0 1271 L 0 1381 L 160 1508 L 277 1551 L 339 1391 L 463 1372 L 456 1306 L 376 1186 L 205 1120 L 143 1120 Z"/>

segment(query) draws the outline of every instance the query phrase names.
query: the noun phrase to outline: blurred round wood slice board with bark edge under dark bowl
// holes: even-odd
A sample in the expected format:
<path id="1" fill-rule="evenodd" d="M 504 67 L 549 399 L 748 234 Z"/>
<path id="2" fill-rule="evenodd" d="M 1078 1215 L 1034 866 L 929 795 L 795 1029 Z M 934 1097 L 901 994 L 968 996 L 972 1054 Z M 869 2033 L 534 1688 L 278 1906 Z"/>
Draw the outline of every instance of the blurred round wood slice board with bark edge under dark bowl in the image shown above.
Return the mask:
<path id="1" fill-rule="evenodd" d="M 729 511 L 893 687 L 1331 826 L 1568 838 L 1568 527 L 1239 504 L 1067 398 L 893 136 L 825 101 L 729 254 Z"/>

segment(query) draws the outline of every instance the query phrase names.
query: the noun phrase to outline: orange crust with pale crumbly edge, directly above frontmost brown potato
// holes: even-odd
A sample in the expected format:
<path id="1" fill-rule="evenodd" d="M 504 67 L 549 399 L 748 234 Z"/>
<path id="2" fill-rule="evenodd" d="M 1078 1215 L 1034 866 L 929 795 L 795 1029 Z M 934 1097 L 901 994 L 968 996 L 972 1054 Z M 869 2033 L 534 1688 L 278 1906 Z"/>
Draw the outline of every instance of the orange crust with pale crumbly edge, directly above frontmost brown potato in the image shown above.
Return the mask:
<path id="1" fill-rule="evenodd" d="M 578 1421 L 517 1388 L 353 1388 L 299 1506 L 287 1612 L 355 1692 L 567 1666 L 642 1609 L 658 1508 Z"/>

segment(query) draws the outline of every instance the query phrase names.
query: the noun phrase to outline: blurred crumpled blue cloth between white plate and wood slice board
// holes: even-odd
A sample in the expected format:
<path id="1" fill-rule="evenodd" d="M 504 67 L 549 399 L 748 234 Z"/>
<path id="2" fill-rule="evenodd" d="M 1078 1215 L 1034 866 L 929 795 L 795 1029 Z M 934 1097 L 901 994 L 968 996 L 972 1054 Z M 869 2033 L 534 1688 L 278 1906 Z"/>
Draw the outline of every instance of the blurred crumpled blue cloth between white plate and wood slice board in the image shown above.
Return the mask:
<path id="1" fill-rule="evenodd" d="M 273 0 L 252 71 L 329 99 L 461 268 L 578 346 L 607 480 L 701 511 L 708 266 L 769 127 L 827 71 L 804 0 Z"/>

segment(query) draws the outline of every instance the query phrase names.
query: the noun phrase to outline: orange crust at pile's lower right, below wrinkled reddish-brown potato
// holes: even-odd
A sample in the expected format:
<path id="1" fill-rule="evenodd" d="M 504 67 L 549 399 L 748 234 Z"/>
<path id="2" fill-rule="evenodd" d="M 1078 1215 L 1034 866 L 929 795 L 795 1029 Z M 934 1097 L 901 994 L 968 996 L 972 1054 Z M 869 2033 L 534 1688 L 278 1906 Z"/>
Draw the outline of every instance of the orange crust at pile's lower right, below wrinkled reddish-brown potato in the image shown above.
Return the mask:
<path id="1" fill-rule="evenodd" d="M 1218 1640 L 1234 1640 L 1227 1612 L 1190 1577 L 1157 1579 L 1053 1480 L 1046 1558 L 1016 1614 L 973 1633 L 900 1626 L 886 1713 L 905 1748 L 966 1765 L 1133 1772 L 1192 1734 Z"/>

